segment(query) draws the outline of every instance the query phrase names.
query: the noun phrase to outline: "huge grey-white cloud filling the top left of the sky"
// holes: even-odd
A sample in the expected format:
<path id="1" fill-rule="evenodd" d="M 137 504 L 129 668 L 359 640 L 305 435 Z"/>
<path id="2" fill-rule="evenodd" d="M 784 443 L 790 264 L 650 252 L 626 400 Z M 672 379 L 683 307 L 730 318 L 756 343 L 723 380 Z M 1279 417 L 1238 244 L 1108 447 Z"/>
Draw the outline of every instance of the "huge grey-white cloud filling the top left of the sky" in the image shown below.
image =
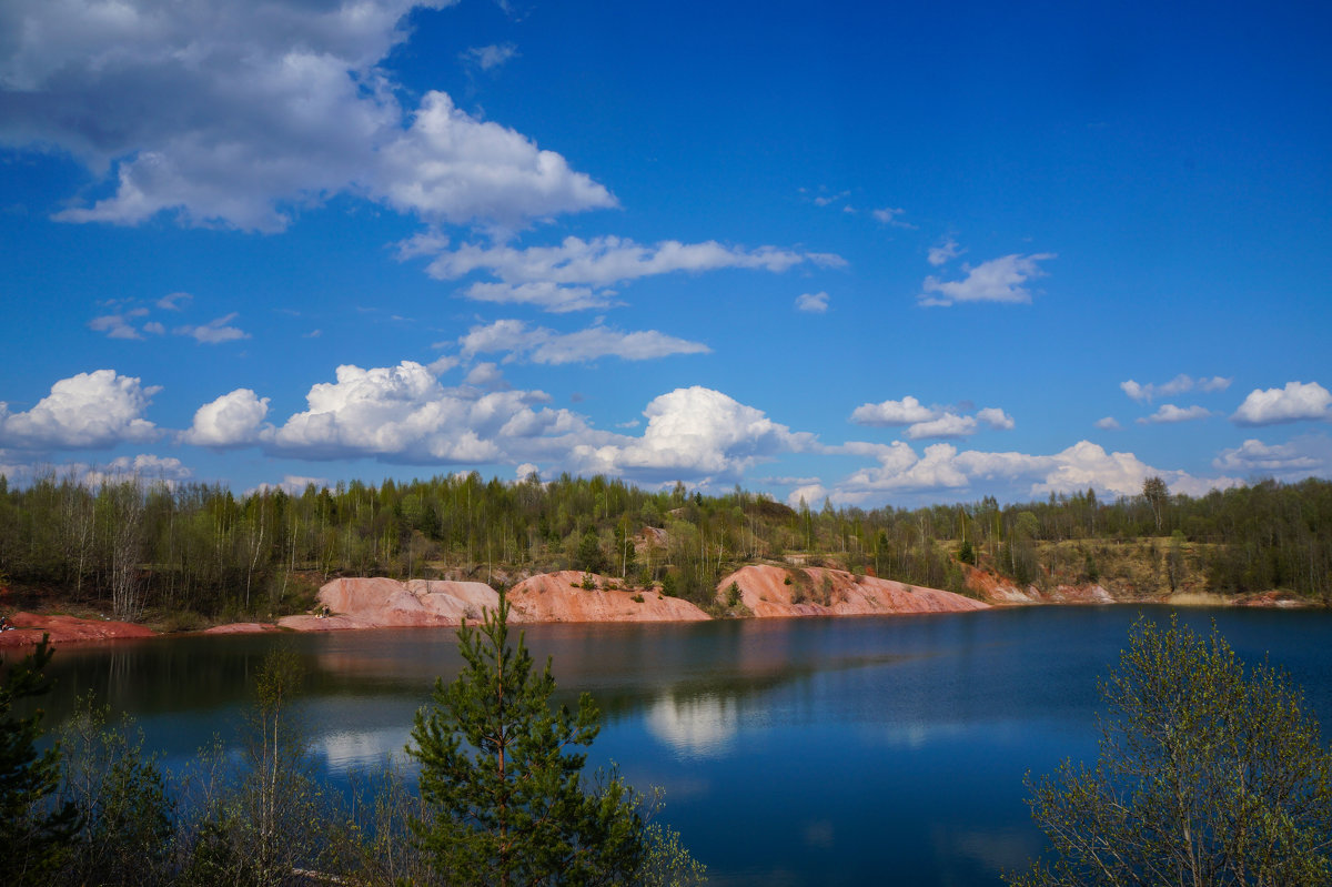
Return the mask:
<path id="1" fill-rule="evenodd" d="M 615 205 L 565 158 L 441 92 L 398 104 L 381 61 L 449 0 L 0 7 L 0 143 L 56 145 L 115 193 L 59 214 L 274 232 L 337 193 L 454 224 Z M 502 47 L 478 61 L 498 60 Z M 152 101 L 144 101 L 152 96 Z"/>

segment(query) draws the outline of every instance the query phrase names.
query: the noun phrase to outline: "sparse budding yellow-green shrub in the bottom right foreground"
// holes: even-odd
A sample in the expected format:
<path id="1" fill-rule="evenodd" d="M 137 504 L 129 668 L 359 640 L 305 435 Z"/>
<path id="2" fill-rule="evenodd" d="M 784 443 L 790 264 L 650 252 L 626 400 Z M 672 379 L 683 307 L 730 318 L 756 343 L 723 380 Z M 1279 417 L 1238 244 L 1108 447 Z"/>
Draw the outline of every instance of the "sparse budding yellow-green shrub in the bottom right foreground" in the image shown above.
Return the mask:
<path id="1" fill-rule="evenodd" d="M 1329 883 L 1332 754 L 1284 675 L 1144 619 L 1102 695 L 1095 767 L 1028 779 L 1055 862 L 1010 884 Z"/>

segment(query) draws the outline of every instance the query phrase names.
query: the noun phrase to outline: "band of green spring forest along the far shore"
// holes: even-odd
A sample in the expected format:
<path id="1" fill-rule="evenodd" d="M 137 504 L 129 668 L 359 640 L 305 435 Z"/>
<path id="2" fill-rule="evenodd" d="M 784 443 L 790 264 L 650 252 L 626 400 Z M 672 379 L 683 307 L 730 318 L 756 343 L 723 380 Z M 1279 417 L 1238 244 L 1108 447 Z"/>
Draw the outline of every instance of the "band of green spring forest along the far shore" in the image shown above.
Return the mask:
<path id="1" fill-rule="evenodd" d="M 1010 505 L 866 510 L 827 501 L 793 509 L 739 486 L 707 495 L 567 474 L 352 481 L 240 497 L 144 478 L 89 487 L 52 473 L 20 487 L 0 477 L 0 585 L 28 605 L 104 607 L 123 619 L 281 615 L 308 607 L 337 575 L 500 587 L 558 569 L 658 583 L 707 603 L 729 570 L 783 558 L 960 593 L 963 563 L 975 563 L 1036 587 L 1122 574 L 1148 590 L 1187 579 L 1217 594 L 1283 590 L 1325 603 L 1332 482 L 1263 481 L 1192 498 L 1150 478 L 1139 495 L 1115 501 L 1088 489 Z"/>

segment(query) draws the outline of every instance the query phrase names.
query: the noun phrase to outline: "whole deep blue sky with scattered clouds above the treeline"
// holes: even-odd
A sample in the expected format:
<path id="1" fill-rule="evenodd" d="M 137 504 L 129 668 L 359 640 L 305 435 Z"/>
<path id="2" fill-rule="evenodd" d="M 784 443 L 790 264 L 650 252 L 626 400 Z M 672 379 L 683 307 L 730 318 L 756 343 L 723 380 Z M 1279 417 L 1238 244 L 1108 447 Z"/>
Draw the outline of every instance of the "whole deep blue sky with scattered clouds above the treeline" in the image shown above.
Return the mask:
<path id="1" fill-rule="evenodd" d="M 0 471 L 1332 477 L 1329 24 L 7 3 Z"/>

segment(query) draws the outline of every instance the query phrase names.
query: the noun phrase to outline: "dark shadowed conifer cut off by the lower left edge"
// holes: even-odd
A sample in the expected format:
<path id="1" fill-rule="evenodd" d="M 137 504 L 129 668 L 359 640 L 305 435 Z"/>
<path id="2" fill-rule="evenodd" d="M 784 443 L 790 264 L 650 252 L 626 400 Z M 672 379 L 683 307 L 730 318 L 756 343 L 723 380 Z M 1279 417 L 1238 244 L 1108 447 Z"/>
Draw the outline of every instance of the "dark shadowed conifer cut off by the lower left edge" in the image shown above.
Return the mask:
<path id="1" fill-rule="evenodd" d="M 65 844 L 79 831 L 73 804 L 44 806 L 60 782 L 60 747 L 40 755 L 41 710 L 17 717 L 13 705 L 40 697 L 51 685 L 41 670 L 51 662 L 47 635 L 0 681 L 0 847 L 4 883 L 45 884 L 59 866 Z"/>

